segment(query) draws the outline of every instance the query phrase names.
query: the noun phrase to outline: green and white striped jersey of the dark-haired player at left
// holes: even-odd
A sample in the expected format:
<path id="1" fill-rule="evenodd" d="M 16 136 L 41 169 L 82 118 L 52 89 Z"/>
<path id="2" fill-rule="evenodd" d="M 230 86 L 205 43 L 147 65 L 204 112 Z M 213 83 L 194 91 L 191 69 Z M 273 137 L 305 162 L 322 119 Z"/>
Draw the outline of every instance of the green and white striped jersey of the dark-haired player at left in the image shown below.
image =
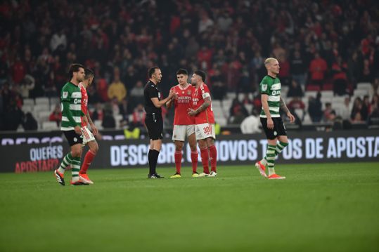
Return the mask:
<path id="1" fill-rule="evenodd" d="M 83 116 L 82 112 L 82 92 L 79 86 L 68 82 L 63 86 L 60 91 L 60 101 L 62 109 L 62 124 L 60 126 L 61 131 L 72 131 L 75 126 L 81 126 Z M 70 110 L 63 110 L 63 102 L 70 103 Z M 70 121 L 70 117 L 74 119 L 75 124 Z"/>

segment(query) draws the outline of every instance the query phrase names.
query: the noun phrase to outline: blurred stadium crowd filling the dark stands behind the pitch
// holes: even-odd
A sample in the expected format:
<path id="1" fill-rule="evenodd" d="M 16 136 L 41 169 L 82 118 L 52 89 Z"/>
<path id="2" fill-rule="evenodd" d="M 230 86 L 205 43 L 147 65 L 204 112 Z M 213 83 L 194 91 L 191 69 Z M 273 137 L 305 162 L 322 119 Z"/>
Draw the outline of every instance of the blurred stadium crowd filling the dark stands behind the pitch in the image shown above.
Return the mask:
<path id="1" fill-rule="evenodd" d="M 177 69 L 204 69 L 214 100 L 237 93 L 227 117 L 240 124 L 260 110 L 257 87 L 269 56 L 281 64 L 291 109 L 304 110 L 312 122 L 375 124 L 378 15 L 374 0 L 1 1 L 0 129 L 37 129 L 23 100 L 58 97 L 73 62 L 94 69 L 89 105 L 103 128 L 115 128 L 115 120 L 142 125 L 143 85 L 153 65 L 162 69 L 165 94 Z M 354 95 L 362 82 L 370 90 Z M 316 95 L 304 104 L 307 91 Z M 345 107 L 322 105 L 318 91 L 342 96 Z M 239 93 L 246 95 L 238 99 Z M 49 118 L 59 122 L 58 108 Z"/>

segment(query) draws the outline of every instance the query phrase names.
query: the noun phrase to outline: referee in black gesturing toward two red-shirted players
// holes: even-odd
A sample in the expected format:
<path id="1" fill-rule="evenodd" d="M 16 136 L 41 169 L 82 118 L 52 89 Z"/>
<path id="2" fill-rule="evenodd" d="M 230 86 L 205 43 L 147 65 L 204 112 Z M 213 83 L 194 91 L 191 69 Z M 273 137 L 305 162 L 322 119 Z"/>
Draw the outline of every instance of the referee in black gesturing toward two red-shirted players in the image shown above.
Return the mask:
<path id="1" fill-rule="evenodd" d="M 150 69 L 148 69 L 148 77 L 149 81 L 143 89 L 146 111 L 145 124 L 148 128 L 150 138 L 150 150 L 148 152 L 150 170 L 148 178 L 164 178 L 155 171 L 163 138 L 163 119 L 162 109 L 160 107 L 171 100 L 175 93 L 170 92 L 167 98 L 161 100 L 158 83 L 162 80 L 162 72 L 160 72 L 159 67 L 150 67 Z"/>

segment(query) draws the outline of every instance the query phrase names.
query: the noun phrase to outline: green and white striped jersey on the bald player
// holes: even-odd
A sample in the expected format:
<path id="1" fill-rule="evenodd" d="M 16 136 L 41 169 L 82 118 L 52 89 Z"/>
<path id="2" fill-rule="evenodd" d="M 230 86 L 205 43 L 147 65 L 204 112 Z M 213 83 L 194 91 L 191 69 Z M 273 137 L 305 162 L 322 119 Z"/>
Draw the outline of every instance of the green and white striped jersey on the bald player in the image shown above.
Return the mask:
<path id="1" fill-rule="evenodd" d="M 279 108 L 281 107 L 281 80 L 266 75 L 259 84 L 261 94 L 269 95 L 269 110 L 271 117 L 280 117 Z M 259 117 L 266 118 L 262 107 Z"/>

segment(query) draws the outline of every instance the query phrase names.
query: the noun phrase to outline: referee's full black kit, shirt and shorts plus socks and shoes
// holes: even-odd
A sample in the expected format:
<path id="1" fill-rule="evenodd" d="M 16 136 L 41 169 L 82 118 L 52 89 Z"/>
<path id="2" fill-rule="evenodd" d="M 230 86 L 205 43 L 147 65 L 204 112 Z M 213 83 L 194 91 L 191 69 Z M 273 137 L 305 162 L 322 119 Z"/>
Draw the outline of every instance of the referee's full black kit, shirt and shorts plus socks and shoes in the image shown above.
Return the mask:
<path id="1" fill-rule="evenodd" d="M 143 89 L 143 97 L 145 99 L 145 124 L 148 128 L 148 135 L 151 140 L 160 140 L 163 138 L 163 119 L 162 109 L 155 107 L 151 98 L 158 98 L 160 100 L 161 94 L 158 89 L 158 85 L 155 85 L 153 81 L 148 81 Z M 148 152 L 148 164 L 149 174 L 148 178 L 163 178 L 156 172 L 158 162 L 159 151 L 149 150 Z"/>

